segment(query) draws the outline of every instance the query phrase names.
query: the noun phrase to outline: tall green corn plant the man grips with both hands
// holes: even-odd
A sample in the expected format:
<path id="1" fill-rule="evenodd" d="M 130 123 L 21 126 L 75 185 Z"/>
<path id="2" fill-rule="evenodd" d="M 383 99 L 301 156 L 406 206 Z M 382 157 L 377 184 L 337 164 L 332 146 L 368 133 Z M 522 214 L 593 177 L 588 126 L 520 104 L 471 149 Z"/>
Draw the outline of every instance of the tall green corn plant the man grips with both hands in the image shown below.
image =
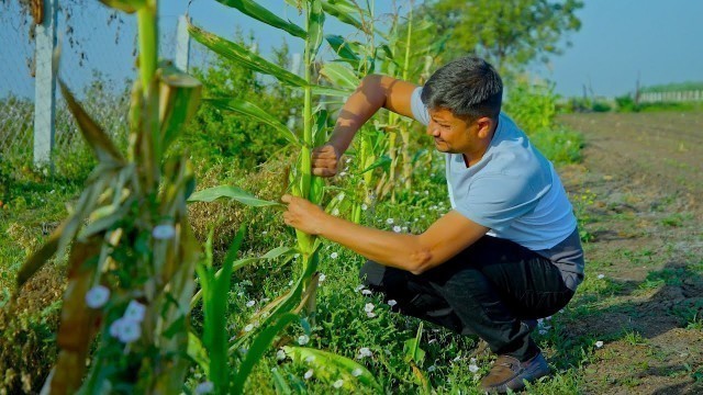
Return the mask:
<path id="1" fill-rule="evenodd" d="M 326 132 L 327 132 L 327 112 L 321 105 L 315 105 L 316 100 L 315 95 L 325 94 L 325 95 L 346 95 L 349 93 L 348 90 L 335 89 L 330 87 L 322 87 L 315 84 L 313 82 L 314 76 L 314 65 L 317 57 L 317 52 L 323 41 L 323 24 L 325 20 L 325 12 L 335 15 L 336 18 L 348 21 L 350 23 L 355 23 L 353 16 L 348 15 L 345 11 L 346 1 L 337 0 L 337 1 L 322 1 L 322 0 L 304 0 L 301 2 L 293 2 L 294 5 L 299 5 L 302 12 L 304 13 L 305 26 L 300 27 L 291 22 L 284 21 L 267 10 L 266 8 L 259 5 L 255 1 L 252 0 L 219 0 L 221 3 L 235 8 L 242 13 L 254 18 L 260 22 L 264 22 L 268 25 L 280 29 L 294 37 L 303 38 L 305 41 L 305 53 L 303 63 L 306 65 L 305 72 L 303 77 L 299 77 L 295 74 L 292 74 L 256 54 L 255 52 L 245 48 L 236 43 L 227 41 L 225 38 L 219 37 L 212 33 L 209 33 L 193 24 L 189 24 L 189 32 L 191 36 L 205 45 L 213 52 L 219 55 L 236 61 L 256 72 L 265 74 L 268 76 L 275 77 L 281 83 L 286 83 L 291 87 L 295 87 L 303 91 L 303 127 L 302 134 L 298 134 L 291 129 L 289 129 L 281 121 L 269 115 L 265 109 L 258 108 L 256 104 L 243 100 L 235 100 L 231 98 L 210 98 L 205 99 L 205 103 L 210 105 L 214 105 L 215 108 L 231 112 L 237 115 L 248 116 L 250 119 L 257 120 L 266 125 L 270 126 L 275 131 L 281 133 L 286 139 L 298 147 L 300 149 L 300 155 L 297 160 L 297 165 L 291 168 L 290 177 L 289 177 L 289 192 L 295 196 L 304 198 L 310 200 L 315 204 L 320 204 L 323 201 L 324 194 L 324 182 L 319 177 L 313 177 L 311 169 L 311 156 L 312 148 L 315 146 L 320 146 L 324 144 L 326 140 Z M 235 185 L 220 185 L 202 191 L 196 192 L 191 198 L 191 202 L 211 202 L 217 199 L 233 199 L 241 203 L 253 205 L 253 206 L 279 206 L 279 203 L 276 202 L 266 202 L 257 199 L 255 195 L 241 190 Z M 254 363 L 258 361 L 264 352 L 270 348 L 275 336 L 286 328 L 290 323 L 294 319 L 292 317 L 297 317 L 297 314 L 302 312 L 303 309 L 310 315 L 314 312 L 314 300 L 315 300 L 315 290 L 317 286 L 317 264 L 319 264 L 319 249 L 321 246 L 321 240 L 314 236 L 306 235 L 304 233 L 298 232 L 295 233 L 298 245 L 294 249 L 279 247 L 278 250 L 274 250 L 267 256 L 270 255 L 291 255 L 290 251 L 294 250 L 300 253 L 302 258 L 302 273 L 298 278 L 298 281 L 293 283 L 292 289 L 284 293 L 282 296 L 278 297 L 269 305 L 259 311 L 254 317 L 250 319 L 250 326 L 247 325 L 252 330 L 242 331 L 238 336 L 235 337 L 233 341 L 230 342 L 228 351 L 230 356 L 235 358 L 235 350 L 239 350 L 246 343 L 248 343 L 247 352 L 243 360 L 237 362 L 236 366 L 230 366 L 228 369 L 232 371 L 236 370 L 236 375 L 234 379 L 227 379 L 223 375 L 222 372 L 216 372 L 212 370 L 212 363 L 205 363 L 204 359 L 201 359 L 203 363 L 201 365 L 209 366 L 209 376 L 217 382 L 224 382 L 227 380 L 232 380 L 232 385 L 227 386 L 225 384 L 219 385 L 221 391 L 225 391 L 228 388 L 231 393 L 242 393 L 244 391 L 244 384 L 246 382 L 246 377 L 252 371 Z M 261 258 L 266 258 L 261 257 Z M 252 260 L 254 258 L 249 258 Z M 221 269 L 220 279 L 224 279 L 227 273 L 231 273 L 228 261 L 225 262 L 225 267 Z M 244 263 L 243 263 L 244 264 Z M 210 279 L 207 282 L 213 283 L 213 276 L 208 276 L 207 271 L 200 270 L 203 272 L 201 278 Z M 217 274 L 214 274 L 216 278 Z M 204 307 L 209 308 L 208 298 L 217 297 L 217 295 L 212 293 L 212 287 L 208 286 L 209 290 L 204 292 Z M 219 285 L 220 291 L 224 290 L 223 286 Z M 221 295 L 219 295 L 222 297 Z M 192 303 L 197 303 L 196 295 Z M 221 311 L 219 313 L 213 314 L 225 314 Z M 212 315 L 212 314 L 211 314 Z M 208 313 L 207 313 L 208 316 Z M 314 318 L 314 316 L 313 316 Z M 205 332 L 215 332 L 222 331 L 223 323 L 215 323 L 214 320 L 205 319 Z M 212 327 L 208 327 L 212 326 Z M 216 328 L 215 328 L 216 327 Z M 212 342 L 213 340 L 208 340 L 209 336 L 205 337 L 205 346 L 208 347 L 208 342 Z M 211 353 L 215 351 L 216 347 L 210 347 Z M 216 351 L 215 351 L 216 352 Z M 202 353 L 201 353 L 202 354 Z M 235 358 L 236 359 L 236 358 Z M 354 361 L 344 359 L 338 356 L 334 356 L 332 358 L 335 361 L 338 361 L 342 364 L 347 366 L 354 366 L 354 369 L 360 369 L 361 366 L 355 363 Z M 212 360 L 211 360 L 212 362 Z M 234 374 L 234 373 L 233 373 Z M 370 376 L 367 375 L 366 379 Z M 370 376 L 370 381 L 375 383 L 372 376 Z M 280 380 L 277 380 L 280 382 Z M 214 383 L 214 381 L 213 381 Z M 215 384 L 217 386 L 217 384 Z"/>

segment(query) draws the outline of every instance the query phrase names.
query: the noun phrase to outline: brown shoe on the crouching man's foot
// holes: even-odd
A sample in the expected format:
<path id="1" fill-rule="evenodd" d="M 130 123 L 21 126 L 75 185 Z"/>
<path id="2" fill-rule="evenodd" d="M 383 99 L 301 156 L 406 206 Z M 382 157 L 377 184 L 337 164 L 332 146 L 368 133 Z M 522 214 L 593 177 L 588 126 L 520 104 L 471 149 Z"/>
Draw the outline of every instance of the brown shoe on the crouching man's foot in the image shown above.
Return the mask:
<path id="1" fill-rule="evenodd" d="M 549 365 L 542 352 L 531 360 L 520 362 L 513 357 L 500 356 L 488 375 L 481 379 L 481 391 L 504 394 L 507 390 L 522 390 L 525 383 L 549 374 Z"/>

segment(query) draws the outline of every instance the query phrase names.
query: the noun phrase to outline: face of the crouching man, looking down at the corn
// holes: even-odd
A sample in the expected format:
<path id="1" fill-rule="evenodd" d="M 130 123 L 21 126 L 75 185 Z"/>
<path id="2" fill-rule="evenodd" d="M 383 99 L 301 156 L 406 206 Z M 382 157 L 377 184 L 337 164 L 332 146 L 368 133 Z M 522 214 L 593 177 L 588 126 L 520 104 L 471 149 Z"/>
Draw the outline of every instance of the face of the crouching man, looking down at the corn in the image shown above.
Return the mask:
<path id="1" fill-rule="evenodd" d="M 475 149 L 478 127 L 475 122 L 467 123 L 446 109 L 429 109 L 428 112 L 427 134 L 434 137 L 438 151 L 468 154 Z"/>

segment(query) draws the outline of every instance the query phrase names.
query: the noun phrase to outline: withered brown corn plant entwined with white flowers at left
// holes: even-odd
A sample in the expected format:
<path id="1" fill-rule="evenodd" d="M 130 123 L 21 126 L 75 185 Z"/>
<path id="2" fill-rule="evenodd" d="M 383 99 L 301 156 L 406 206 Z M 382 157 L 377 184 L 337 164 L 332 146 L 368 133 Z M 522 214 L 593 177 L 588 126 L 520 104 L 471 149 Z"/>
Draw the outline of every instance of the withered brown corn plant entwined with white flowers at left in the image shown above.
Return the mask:
<path id="1" fill-rule="evenodd" d="M 198 109 L 201 87 L 175 67 L 157 64 L 156 0 L 102 2 L 137 16 L 140 78 L 132 93 L 127 153 L 116 148 L 59 79 L 98 165 L 71 215 L 21 268 L 18 285 L 70 249 L 59 353 L 45 392 L 178 393 L 190 364 L 182 350 L 200 248 L 187 216 L 194 189 L 190 162 L 165 153 Z"/>

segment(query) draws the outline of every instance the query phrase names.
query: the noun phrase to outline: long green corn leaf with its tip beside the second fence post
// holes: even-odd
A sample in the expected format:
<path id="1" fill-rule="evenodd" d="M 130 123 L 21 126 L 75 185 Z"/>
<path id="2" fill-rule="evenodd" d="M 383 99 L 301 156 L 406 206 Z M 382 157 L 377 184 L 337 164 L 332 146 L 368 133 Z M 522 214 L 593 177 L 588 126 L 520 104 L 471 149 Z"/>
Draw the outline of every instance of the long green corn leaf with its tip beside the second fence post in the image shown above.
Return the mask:
<path id="1" fill-rule="evenodd" d="M 258 56 L 254 52 L 243 47 L 239 44 L 205 32 L 202 29 L 190 23 L 188 23 L 188 31 L 197 42 L 212 49 L 214 53 L 224 56 L 227 59 L 242 64 L 243 66 L 254 71 L 272 76 L 279 81 L 293 87 L 302 88 L 308 86 L 308 82 L 305 82 L 303 78 L 264 59 L 263 57 Z"/>

